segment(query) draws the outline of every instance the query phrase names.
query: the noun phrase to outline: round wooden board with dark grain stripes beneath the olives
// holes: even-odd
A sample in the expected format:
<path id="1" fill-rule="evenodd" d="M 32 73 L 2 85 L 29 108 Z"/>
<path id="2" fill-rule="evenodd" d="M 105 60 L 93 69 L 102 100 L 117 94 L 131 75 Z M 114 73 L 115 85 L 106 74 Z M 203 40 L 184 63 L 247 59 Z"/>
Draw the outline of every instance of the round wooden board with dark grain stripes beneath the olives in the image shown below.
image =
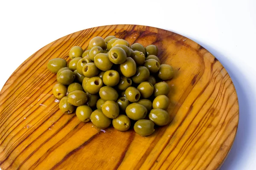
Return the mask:
<path id="1" fill-rule="evenodd" d="M 172 122 L 148 137 L 113 127 L 98 131 L 63 114 L 52 95 L 56 75 L 47 62 L 68 59 L 96 36 L 154 44 L 173 66 L 168 111 Z M 69 60 L 69 59 L 68 59 Z M 236 136 L 239 105 L 225 68 L 201 45 L 179 34 L 137 25 L 85 29 L 62 37 L 26 59 L 0 92 L 0 167 L 35 170 L 214 170 Z"/>

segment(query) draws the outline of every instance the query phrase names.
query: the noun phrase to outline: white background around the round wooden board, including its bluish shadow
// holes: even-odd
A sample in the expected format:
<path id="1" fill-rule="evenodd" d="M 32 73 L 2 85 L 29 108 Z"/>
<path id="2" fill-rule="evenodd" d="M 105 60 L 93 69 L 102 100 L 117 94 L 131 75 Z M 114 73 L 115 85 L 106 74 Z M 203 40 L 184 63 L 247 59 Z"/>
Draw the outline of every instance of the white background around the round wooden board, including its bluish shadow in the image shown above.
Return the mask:
<path id="1" fill-rule="evenodd" d="M 224 65 L 236 87 L 240 116 L 221 170 L 254 170 L 256 0 L 0 0 L 0 89 L 44 45 L 75 31 L 111 24 L 174 31 L 204 46 Z"/>

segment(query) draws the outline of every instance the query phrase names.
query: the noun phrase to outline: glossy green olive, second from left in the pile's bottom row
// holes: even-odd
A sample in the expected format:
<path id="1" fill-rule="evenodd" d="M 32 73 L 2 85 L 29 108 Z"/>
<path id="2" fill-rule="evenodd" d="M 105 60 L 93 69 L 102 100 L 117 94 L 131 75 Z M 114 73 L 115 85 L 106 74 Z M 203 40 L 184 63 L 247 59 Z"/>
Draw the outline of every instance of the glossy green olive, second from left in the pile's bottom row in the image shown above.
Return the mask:
<path id="1" fill-rule="evenodd" d="M 76 108 L 76 116 L 82 122 L 89 122 L 90 115 L 93 113 L 93 110 L 87 105 L 81 105 Z"/>

